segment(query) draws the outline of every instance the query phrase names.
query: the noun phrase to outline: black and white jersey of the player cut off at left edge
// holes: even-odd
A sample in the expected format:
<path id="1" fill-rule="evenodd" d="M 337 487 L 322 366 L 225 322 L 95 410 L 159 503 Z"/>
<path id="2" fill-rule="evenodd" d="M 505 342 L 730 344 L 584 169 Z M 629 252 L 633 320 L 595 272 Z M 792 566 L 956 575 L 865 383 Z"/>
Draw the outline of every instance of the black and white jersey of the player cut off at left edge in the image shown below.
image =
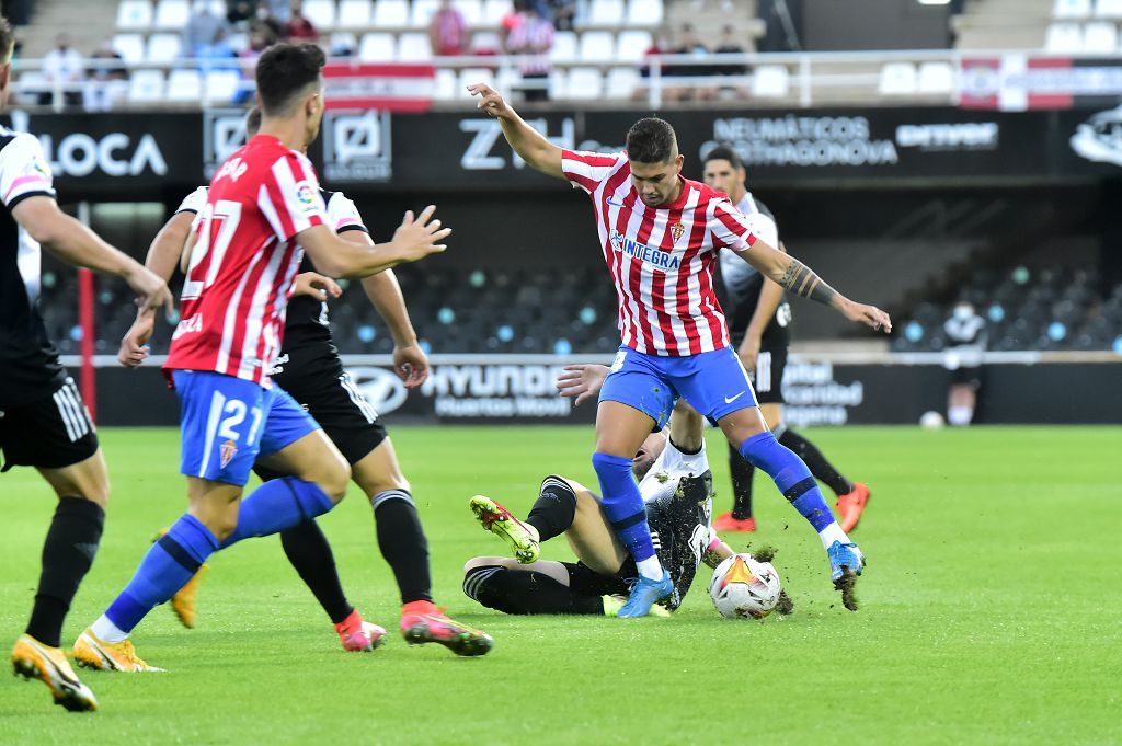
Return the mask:
<path id="1" fill-rule="evenodd" d="M 55 199 L 39 140 L 0 127 L 0 409 L 49 396 L 66 379 L 38 311 L 39 245 L 12 217 L 35 196 Z"/>

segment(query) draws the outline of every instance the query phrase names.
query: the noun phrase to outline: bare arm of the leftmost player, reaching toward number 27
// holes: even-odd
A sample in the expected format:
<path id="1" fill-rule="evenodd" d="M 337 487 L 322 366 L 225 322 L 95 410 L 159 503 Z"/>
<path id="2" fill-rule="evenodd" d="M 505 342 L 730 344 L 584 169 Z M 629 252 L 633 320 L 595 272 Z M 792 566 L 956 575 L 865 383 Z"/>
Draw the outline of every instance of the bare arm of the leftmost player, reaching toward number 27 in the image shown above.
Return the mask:
<path id="1" fill-rule="evenodd" d="M 172 311 L 172 292 L 166 282 L 59 210 L 53 199 L 28 197 L 12 209 L 11 215 L 31 238 L 63 261 L 123 279 L 137 294 L 141 310 L 164 306 Z"/>

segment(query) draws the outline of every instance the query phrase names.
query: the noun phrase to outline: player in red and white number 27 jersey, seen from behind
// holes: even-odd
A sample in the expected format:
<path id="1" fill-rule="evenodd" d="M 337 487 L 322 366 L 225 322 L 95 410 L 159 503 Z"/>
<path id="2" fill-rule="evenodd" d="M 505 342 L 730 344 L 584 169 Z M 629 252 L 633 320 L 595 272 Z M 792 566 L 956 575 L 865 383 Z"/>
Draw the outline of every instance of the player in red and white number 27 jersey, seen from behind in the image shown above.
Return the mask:
<path id="1" fill-rule="evenodd" d="M 188 510 L 148 551 L 132 580 L 74 645 L 80 664 L 150 670 L 128 639 L 219 549 L 330 510 L 350 469 L 312 417 L 268 371 L 306 251 L 324 274 L 366 277 L 442 251 L 449 234 L 406 214 L 390 242 L 361 246 L 332 230 L 311 163 L 300 150 L 323 117 L 323 52 L 278 44 L 257 63 L 259 133 L 211 181 L 183 284 L 165 370 L 181 403 Z M 242 498 L 255 461 L 291 475 Z"/>

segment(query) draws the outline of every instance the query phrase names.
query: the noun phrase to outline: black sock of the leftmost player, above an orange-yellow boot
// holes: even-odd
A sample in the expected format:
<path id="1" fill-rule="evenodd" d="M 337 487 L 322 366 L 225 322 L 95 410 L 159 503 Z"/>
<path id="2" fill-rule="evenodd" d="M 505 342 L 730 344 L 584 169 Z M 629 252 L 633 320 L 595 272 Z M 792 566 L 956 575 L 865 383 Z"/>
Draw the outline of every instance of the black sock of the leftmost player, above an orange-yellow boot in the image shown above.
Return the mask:
<path id="1" fill-rule="evenodd" d="M 47 538 L 43 542 L 43 572 L 27 634 L 44 645 L 58 647 L 63 620 L 82 578 L 98 553 L 105 512 L 81 497 L 58 499 Z"/>

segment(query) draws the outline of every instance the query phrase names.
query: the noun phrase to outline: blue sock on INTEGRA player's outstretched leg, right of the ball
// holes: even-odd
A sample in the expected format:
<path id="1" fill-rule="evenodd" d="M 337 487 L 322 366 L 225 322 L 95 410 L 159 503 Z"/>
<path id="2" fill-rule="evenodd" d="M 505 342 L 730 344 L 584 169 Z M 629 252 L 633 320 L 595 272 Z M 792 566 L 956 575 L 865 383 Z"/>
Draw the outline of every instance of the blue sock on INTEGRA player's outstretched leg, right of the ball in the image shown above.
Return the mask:
<path id="1" fill-rule="evenodd" d="M 781 445 L 775 435 L 771 432 L 753 435 L 741 444 L 739 450 L 748 463 L 767 472 L 775 481 L 783 497 L 818 532 L 824 547 L 828 547 L 834 541 L 849 541 L 830 513 L 810 469 L 802 459 Z"/>

